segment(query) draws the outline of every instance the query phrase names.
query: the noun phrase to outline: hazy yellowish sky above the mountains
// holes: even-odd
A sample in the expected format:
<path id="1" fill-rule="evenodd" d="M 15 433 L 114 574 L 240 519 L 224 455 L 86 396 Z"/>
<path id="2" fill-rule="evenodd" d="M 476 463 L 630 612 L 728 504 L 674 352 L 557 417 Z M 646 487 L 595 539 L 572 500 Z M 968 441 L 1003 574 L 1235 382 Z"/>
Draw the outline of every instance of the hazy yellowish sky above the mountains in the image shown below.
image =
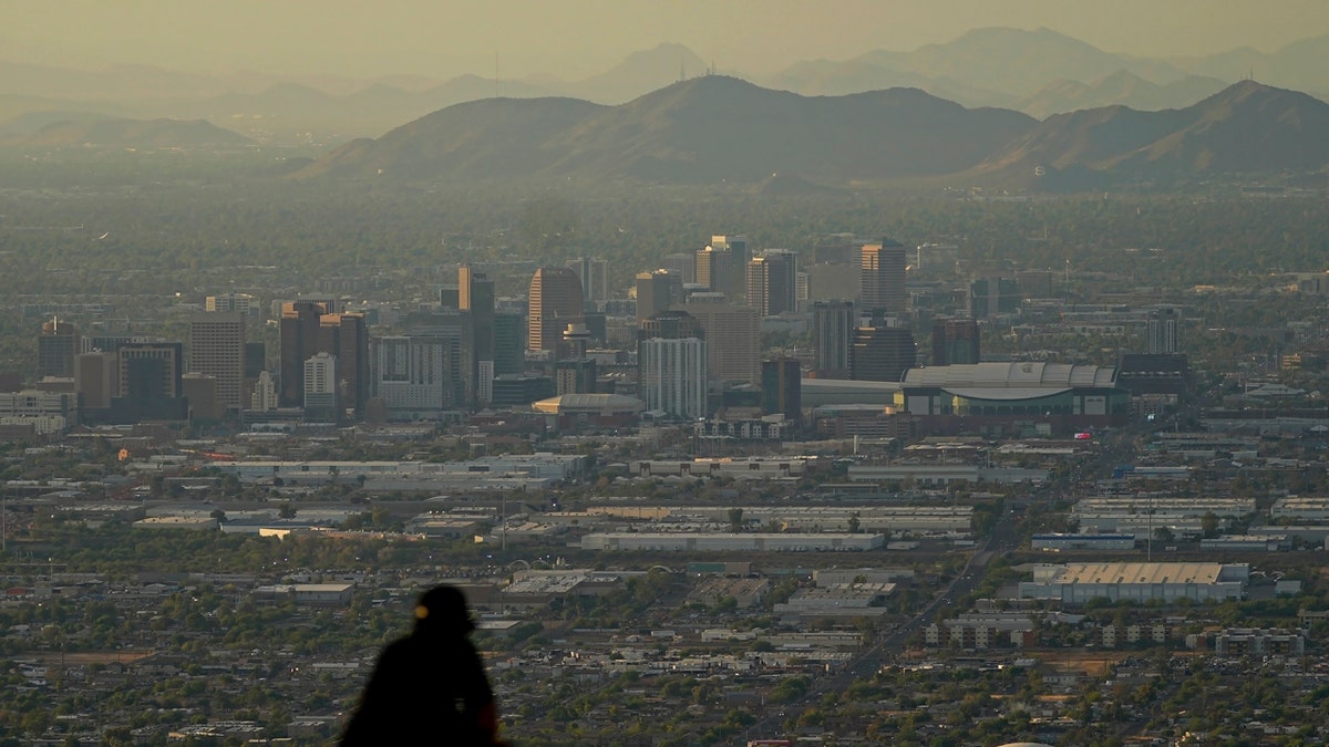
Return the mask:
<path id="1" fill-rule="evenodd" d="M 1264 52 L 1329 33 L 1329 0 L 3 0 L 0 57 L 199 72 L 575 78 L 662 41 L 720 70 L 1047 27 L 1108 52 Z M 3 90 L 0 90 L 3 93 Z"/>

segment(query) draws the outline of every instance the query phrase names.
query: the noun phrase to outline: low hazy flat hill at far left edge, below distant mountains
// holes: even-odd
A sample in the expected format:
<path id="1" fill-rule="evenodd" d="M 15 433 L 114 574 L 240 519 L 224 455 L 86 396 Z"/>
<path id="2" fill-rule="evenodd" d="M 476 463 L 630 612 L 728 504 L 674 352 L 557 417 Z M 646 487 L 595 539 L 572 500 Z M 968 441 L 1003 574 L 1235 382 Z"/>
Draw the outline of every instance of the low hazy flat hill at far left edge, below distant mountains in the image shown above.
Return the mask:
<path id="1" fill-rule="evenodd" d="M 52 122 L 31 134 L 5 137 L 4 145 L 23 148 L 241 148 L 247 137 L 202 120 L 80 118 Z"/>

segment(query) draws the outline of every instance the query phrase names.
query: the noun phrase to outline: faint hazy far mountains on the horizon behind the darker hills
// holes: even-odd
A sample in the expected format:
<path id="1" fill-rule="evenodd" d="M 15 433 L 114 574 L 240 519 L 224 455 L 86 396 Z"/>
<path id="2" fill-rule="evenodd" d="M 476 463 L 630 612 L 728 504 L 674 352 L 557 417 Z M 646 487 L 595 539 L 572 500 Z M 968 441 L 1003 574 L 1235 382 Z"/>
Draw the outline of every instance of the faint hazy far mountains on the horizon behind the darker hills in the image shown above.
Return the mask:
<path id="1" fill-rule="evenodd" d="M 60 112 L 73 118 L 202 118 L 263 142 L 335 144 L 375 137 L 478 98 L 625 104 L 706 69 L 700 57 L 678 44 L 634 53 L 610 70 L 575 81 L 205 76 L 141 65 L 86 72 L 0 60 L 0 134 L 32 134 L 51 118 L 24 117 Z M 1183 108 L 1248 77 L 1329 97 L 1329 36 L 1272 53 L 1243 48 L 1207 57 L 1144 58 L 1104 52 L 1050 29 L 985 28 L 912 52 L 804 61 L 766 76 L 731 73 L 804 96 L 917 88 L 966 108 L 999 106 L 1045 118 L 1107 105 Z"/>

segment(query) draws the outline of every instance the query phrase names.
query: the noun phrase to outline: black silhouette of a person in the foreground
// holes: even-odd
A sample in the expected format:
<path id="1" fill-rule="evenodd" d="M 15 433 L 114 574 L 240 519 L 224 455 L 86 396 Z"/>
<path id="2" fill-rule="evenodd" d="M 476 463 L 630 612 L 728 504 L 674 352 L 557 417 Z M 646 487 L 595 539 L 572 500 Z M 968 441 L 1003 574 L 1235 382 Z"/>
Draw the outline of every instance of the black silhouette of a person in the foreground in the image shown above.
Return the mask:
<path id="1" fill-rule="evenodd" d="M 455 586 L 420 595 L 409 635 L 388 643 L 369 675 L 360 707 L 342 735 L 361 744 L 501 744 L 493 690 L 466 598 Z"/>

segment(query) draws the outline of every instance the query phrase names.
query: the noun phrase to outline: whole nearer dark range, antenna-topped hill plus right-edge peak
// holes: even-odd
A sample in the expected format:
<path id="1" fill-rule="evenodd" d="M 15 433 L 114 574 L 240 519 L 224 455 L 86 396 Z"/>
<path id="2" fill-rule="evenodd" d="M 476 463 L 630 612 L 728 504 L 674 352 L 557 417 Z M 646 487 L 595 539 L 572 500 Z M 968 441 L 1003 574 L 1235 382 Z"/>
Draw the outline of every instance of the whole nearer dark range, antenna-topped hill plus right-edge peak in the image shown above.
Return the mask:
<path id="1" fill-rule="evenodd" d="M 340 146 L 296 177 L 387 182 L 637 179 L 815 187 L 942 178 L 1086 189 L 1220 174 L 1321 171 L 1329 104 L 1253 81 L 1181 109 L 1114 105 L 1038 121 L 894 88 L 805 97 L 703 76 L 606 106 L 488 98 Z"/>

